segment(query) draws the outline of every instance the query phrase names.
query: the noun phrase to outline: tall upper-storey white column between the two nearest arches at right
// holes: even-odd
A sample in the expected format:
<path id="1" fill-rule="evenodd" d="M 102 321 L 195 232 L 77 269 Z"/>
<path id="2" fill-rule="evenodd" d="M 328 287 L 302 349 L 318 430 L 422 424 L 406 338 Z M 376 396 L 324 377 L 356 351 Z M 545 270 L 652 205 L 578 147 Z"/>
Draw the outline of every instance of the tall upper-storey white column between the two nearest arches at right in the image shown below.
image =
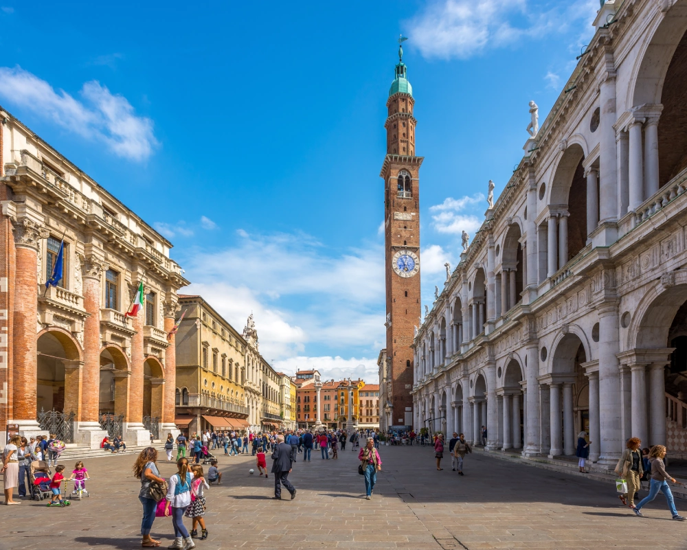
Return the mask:
<path id="1" fill-rule="evenodd" d="M 609 60 L 609 56 L 611 59 Z M 611 65 L 611 67 L 609 67 Z M 599 217 L 601 222 L 618 219 L 618 178 L 616 177 L 616 73 L 612 54 L 607 54 L 605 76 L 599 84 L 601 110 L 599 132 Z M 608 240 L 608 238 L 607 238 Z M 611 242 L 614 242 L 612 238 Z M 607 242 L 606 244 L 611 244 Z M 615 465 L 613 465 L 615 466 Z"/>

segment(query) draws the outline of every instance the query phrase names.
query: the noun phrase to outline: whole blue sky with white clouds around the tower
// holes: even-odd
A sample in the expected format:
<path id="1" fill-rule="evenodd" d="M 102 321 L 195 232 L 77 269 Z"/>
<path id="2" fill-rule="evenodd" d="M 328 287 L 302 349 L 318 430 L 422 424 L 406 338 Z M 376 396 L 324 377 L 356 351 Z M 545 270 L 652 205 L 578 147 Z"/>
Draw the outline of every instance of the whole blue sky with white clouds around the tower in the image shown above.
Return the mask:
<path id="1" fill-rule="evenodd" d="M 4 2 L 4 3 L 2 3 Z M 416 98 L 423 302 L 593 34 L 597 0 L 0 0 L 0 104 L 174 243 L 199 293 L 256 317 L 284 371 L 376 378 L 385 102 Z"/>

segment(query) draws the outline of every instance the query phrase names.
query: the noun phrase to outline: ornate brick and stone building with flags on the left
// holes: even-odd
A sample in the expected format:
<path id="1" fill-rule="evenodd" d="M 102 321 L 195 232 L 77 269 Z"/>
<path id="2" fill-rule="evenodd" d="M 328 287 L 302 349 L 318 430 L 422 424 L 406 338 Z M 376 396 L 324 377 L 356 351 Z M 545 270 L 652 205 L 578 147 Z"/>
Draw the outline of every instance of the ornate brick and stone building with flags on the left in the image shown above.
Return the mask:
<path id="1" fill-rule="evenodd" d="M 1 109 L 0 123 L 0 431 L 47 433 L 42 409 L 91 447 L 103 413 L 131 444 L 173 430 L 166 334 L 188 282 L 172 244 Z M 63 239 L 63 278 L 46 289 Z M 144 310 L 125 317 L 141 282 Z"/>

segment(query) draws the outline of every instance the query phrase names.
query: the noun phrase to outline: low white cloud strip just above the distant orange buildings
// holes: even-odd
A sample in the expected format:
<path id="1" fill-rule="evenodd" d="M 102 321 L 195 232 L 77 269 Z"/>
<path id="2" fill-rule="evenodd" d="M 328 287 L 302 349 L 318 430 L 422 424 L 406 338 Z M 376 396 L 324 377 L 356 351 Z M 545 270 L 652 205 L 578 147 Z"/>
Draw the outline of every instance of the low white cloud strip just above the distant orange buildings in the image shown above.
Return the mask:
<path id="1" fill-rule="evenodd" d="M 275 361 L 272 365 L 277 371 L 293 376 L 297 370 L 317 369 L 322 380 L 342 380 L 343 378 L 362 378 L 368 384 L 379 384 L 379 369 L 375 358 L 350 358 L 339 356 L 307 357 L 297 356 Z"/>

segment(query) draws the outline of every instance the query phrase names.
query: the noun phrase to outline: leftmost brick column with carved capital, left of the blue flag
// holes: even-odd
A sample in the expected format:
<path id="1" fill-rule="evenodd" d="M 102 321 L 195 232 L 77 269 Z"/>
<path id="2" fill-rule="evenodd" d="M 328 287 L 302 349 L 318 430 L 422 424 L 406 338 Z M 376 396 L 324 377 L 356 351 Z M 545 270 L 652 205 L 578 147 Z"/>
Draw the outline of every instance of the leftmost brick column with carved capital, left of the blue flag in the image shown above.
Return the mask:
<path id="1" fill-rule="evenodd" d="M 12 322 L 12 423 L 19 424 L 19 433 L 27 439 L 48 435 L 38 428 L 38 247 L 48 233 L 30 218 L 13 220 L 15 271 L 14 319 Z M 69 411 L 67 411 L 69 412 Z M 2 427 L 4 429 L 4 426 Z M 5 442 L 3 442 L 4 444 Z"/>

